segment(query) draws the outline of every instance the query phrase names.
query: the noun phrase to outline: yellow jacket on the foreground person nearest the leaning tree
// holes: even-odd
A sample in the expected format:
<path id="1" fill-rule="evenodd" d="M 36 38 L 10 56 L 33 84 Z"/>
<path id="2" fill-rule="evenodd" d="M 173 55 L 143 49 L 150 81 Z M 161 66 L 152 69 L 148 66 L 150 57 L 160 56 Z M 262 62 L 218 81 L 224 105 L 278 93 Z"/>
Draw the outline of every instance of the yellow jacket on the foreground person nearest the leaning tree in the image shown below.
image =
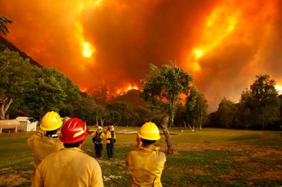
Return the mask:
<path id="1" fill-rule="evenodd" d="M 128 153 L 126 165 L 131 177 L 130 186 L 162 186 L 161 173 L 166 155 L 159 148 L 137 148 Z"/>

